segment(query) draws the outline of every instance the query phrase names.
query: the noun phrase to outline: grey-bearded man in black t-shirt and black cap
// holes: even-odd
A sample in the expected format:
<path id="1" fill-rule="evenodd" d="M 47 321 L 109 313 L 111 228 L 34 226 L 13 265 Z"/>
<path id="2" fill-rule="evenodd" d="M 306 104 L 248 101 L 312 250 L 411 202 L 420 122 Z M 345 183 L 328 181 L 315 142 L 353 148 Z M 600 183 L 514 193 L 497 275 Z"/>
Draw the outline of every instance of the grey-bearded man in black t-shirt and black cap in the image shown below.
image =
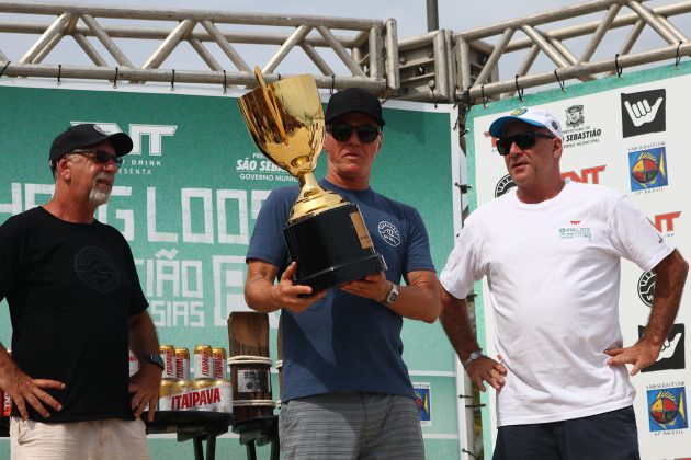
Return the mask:
<path id="1" fill-rule="evenodd" d="M 158 402 L 158 338 L 127 242 L 93 218 L 132 147 L 123 133 L 70 127 L 50 148 L 53 198 L 0 227 L 12 459 L 149 458 L 139 416 Z M 141 363 L 132 377 L 128 348 Z"/>

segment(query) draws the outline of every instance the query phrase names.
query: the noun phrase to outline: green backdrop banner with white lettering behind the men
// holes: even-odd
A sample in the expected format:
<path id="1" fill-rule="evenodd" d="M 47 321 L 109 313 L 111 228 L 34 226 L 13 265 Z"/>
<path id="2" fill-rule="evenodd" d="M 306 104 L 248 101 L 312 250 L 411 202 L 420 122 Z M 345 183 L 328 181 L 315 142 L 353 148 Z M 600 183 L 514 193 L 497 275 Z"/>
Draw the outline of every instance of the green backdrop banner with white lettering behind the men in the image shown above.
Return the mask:
<path id="1" fill-rule="evenodd" d="M 420 210 L 441 269 L 453 244 L 452 114 L 448 107 L 385 104 L 390 105 L 397 108 L 385 108 L 384 148 L 372 187 Z M 134 150 L 97 218 L 132 245 L 160 342 L 227 348 L 228 314 L 248 310 L 245 254 L 254 219 L 272 188 L 296 183 L 259 153 L 236 97 L 5 81 L 0 106 L 0 222 L 49 199 L 48 149 L 70 124 L 99 123 L 128 133 Z M 325 163 L 321 158 L 318 177 Z M 275 359 L 276 314 L 270 323 Z M 0 341 L 9 344 L 5 301 L 0 324 Z M 423 426 L 428 449 L 457 457 L 454 355 L 439 324 L 406 321 L 404 343 L 412 380 L 432 387 L 426 393 L 433 396 L 431 421 Z"/>

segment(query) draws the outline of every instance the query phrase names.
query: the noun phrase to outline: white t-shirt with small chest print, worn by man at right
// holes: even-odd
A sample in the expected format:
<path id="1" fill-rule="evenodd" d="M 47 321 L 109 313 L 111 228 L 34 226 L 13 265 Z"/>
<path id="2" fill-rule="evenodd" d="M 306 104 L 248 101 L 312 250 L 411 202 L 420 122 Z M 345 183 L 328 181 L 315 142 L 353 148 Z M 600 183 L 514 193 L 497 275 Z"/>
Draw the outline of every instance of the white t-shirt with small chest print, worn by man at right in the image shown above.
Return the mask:
<path id="1" fill-rule="evenodd" d="M 487 277 L 496 347 L 508 368 L 499 426 L 556 422 L 633 403 L 622 346 L 620 261 L 654 268 L 673 251 L 626 195 L 567 182 L 524 204 L 516 189 L 474 211 L 440 275 L 457 299 Z"/>

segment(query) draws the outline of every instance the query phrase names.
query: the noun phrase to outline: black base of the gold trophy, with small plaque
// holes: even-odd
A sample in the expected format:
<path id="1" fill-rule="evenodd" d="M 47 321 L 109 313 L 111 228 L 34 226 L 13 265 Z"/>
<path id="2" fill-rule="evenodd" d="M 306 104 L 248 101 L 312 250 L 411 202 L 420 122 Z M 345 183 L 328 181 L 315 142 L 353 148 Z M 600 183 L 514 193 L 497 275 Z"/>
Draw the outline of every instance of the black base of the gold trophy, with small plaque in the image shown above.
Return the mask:
<path id="1" fill-rule="evenodd" d="M 283 229 L 295 284 L 330 289 L 386 269 L 374 251 L 358 206 L 347 204 L 293 222 Z"/>

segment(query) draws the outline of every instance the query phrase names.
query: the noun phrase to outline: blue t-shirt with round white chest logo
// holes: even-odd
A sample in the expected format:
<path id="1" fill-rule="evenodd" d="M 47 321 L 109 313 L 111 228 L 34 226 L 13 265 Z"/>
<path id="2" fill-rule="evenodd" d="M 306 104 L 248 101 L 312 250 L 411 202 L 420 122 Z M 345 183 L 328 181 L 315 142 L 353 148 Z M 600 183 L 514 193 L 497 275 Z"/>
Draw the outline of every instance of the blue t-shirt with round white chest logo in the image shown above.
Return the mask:
<path id="1" fill-rule="evenodd" d="M 433 271 L 429 240 L 418 211 L 371 188 L 351 191 L 319 181 L 358 205 L 386 277 L 400 284 L 404 274 Z M 285 269 L 290 257 L 283 240 L 298 187 L 273 191 L 264 202 L 247 260 Z M 302 313 L 281 311 L 283 334 L 282 401 L 324 393 L 373 392 L 414 396 L 403 361 L 403 317 L 381 303 L 331 289 Z"/>

